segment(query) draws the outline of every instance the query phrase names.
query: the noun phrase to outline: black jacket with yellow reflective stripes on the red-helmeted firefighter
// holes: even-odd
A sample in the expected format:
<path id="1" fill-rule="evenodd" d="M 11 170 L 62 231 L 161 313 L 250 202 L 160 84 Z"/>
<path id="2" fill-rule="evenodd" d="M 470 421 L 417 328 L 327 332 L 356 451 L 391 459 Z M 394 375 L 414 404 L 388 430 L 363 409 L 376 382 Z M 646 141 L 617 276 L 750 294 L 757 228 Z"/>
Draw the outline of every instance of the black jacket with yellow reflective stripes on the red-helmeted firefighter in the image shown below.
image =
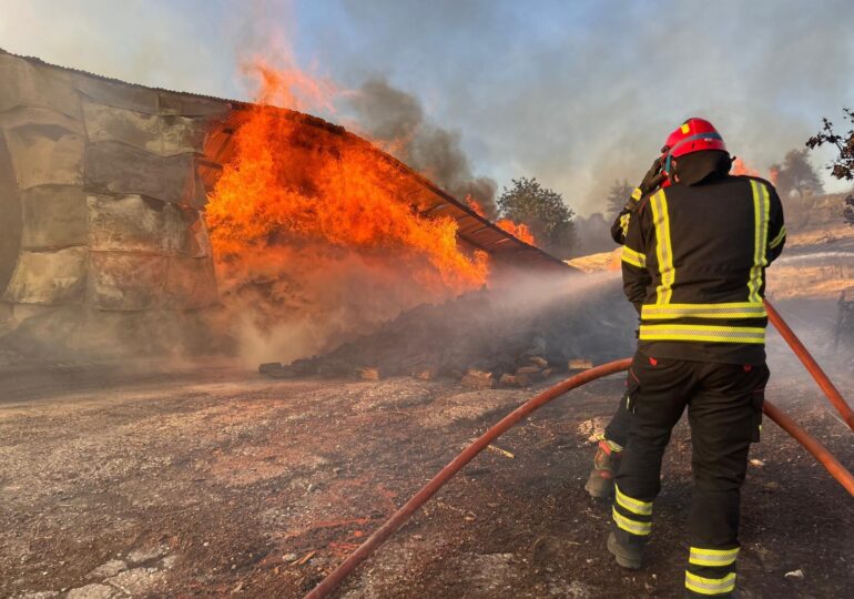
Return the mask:
<path id="1" fill-rule="evenodd" d="M 774 186 L 721 176 L 643 197 L 627 219 L 623 290 L 651 357 L 765 359 L 765 267 L 785 243 Z"/>

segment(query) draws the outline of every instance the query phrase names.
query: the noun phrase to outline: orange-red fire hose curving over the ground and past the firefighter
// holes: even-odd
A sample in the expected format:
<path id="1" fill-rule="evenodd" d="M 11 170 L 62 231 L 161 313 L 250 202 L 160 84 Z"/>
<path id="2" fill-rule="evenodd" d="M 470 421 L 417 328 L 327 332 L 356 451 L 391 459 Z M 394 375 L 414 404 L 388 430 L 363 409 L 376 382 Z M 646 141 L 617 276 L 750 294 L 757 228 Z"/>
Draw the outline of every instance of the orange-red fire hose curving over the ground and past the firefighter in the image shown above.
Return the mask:
<path id="1" fill-rule="evenodd" d="M 795 354 L 797 354 L 804 365 L 806 365 L 813 377 L 816 378 L 816 382 L 822 387 L 822 390 L 825 392 L 828 399 L 831 399 L 836 409 L 838 409 L 843 417 L 845 417 L 848 426 L 851 426 L 852 420 L 850 416 L 847 416 L 851 415 L 851 407 L 847 405 L 842 395 L 840 395 L 836 387 L 833 386 L 833 384 L 830 382 L 821 367 L 819 367 L 806 348 L 801 344 L 800 341 L 797 341 L 797 337 L 794 336 L 792 329 L 789 328 L 789 326 L 783 322 L 780 314 L 767 302 L 765 302 L 765 306 L 767 308 L 769 318 L 771 322 L 777 328 L 780 328 L 781 325 L 785 327 L 786 333 L 781 331 L 783 338 L 785 338 L 790 346 L 792 346 L 792 349 L 794 349 Z M 814 365 L 814 368 L 807 365 L 807 362 L 809 364 Z M 447 466 L 439 470 L 439 473 L 434 476 L 430 481 L 427 483 L 427 485 L 421 487 L 418 493 L 416 493 L 406 504 L 404 504 L 397 511 L 395 511 L 383 526 L 380 526 L 373 535 L 370 535 L 370 537 L 367 538 L 367 540 L 365 540 L 365 542 L 358 547 L 358 549 L 347 556 L 347 558 L 337 568 L 335 568 L 335 570 L 333 570 L 319 582 L 319 585 L 317 585 L 311 592 L 308 592 L 308 595 L 305 596 L 305 599 L 322 599 L 333 592 L 338 587 L 338 585 L 340 585 L 340 582 L 353 570 L 356 569 L 359 564 L 365 561 L 370 556 L 370 554 L 374 552 L 374 550 L 376 550 L 386 541 L 386 539 L 388 539 L 388 537 L 390 537 L 398 528 L 400 528 L 404 522 L 406 522 L 406 520 L 408 520 L 409 517 L 415 514 L 416 510 L 418 510 L 418 508 L 426 504 L 430 497 L 433 497 L 448 480 L 450 480 L 454 475 L 461 470 L 469 461 L 471 461 L 478 454 L 480 454 L 480 451 L 486 449 L 489 444 L 491 444 L 507 430 L 521 422 L 522 418 L 545 406 L 552 399 L 560 397 L 571 389 L 575 389 L 576 387 L 580 387 L 581 385 L 586 385 L 587 383 L 603 376 L 627 370 L 630 365 L 631 358 L 623 358 L 616 362 L 609 362 L 608 364 L 602 364 L 601 366 L 597 366 L 589 370 L 584 370 L 580 374 L 567 378 L 566 380 L 562 380 L 561 383 L 558 383 L 553 387 L 543 390 L 536 397 L 529 399 L 527 403 L 522 404 L 514 412 L 505 416 L 495 426 L 492 426 L 489 430 L 484 433 L 468 447 L 466 447 L 462 453 L 455 457 Z M 820 378 L 826 382 L 826 384 L 823 384 Z M 828 388 L 835 392 L 836 399 L 831 398 L 831 393 L 827 390 Z M 830 473 L 830 475 L 835 478 L 836 481 L 838 481 L 840 485 L 842 485 L 842 487 L 848 491 L 852 497 L 854 497 L 854 475 L 852 475 L 827 450 L 827 448 L 824 447 L 824 445 L 822 445 L 817 439 L 806 433 L 806 430 L 801 428 L 801 426 L 799 426 L 792 418 L 790 418 L 780 408 L 770 402 L 765 400 L 763 412 L 783 430 L 789 433 L 807 451 L 810 451 L 815 457 L 815 459 L 817 459 L 819 463 L 824 466 L 827 473 Z"/>

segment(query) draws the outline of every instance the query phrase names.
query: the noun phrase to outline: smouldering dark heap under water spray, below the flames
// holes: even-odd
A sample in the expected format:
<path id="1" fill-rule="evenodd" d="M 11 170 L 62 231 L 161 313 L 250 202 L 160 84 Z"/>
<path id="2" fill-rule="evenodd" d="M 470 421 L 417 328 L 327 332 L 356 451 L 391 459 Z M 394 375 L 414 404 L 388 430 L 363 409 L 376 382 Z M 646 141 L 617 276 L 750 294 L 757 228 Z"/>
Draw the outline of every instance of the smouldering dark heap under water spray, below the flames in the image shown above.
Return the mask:
<path id="1" fill-rule="evenodd" d="M 590 285 L 583 281 L 568 277 L 540 294 L 481 290 L 443 305 L 423 304 L 327 354 L 260 370 L 284 378 L 443 377 L 492 388 L 527 386 L 631 353 L 636 317 L 618 281 L 602 278 L 580 290 Z"/>

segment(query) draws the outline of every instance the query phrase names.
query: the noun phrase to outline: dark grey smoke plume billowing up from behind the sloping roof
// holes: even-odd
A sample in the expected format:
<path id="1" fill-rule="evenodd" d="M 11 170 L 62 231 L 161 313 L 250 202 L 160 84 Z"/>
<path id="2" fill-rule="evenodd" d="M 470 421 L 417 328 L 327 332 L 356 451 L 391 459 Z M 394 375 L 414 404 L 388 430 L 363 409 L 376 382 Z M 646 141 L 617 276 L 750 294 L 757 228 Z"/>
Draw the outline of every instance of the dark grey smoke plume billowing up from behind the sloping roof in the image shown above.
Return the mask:
<path id="1" fill-rule="evenodd" d="M 460 133 L 443 129 L 426 116 L 420 101 L 372 78 L 349 98 L 357 126 L 399 160 L 433 180 L 458 200 L 471 196 L 487 217 L 497 215 L 496 182 L 475 176 L 460 144 Z"/>

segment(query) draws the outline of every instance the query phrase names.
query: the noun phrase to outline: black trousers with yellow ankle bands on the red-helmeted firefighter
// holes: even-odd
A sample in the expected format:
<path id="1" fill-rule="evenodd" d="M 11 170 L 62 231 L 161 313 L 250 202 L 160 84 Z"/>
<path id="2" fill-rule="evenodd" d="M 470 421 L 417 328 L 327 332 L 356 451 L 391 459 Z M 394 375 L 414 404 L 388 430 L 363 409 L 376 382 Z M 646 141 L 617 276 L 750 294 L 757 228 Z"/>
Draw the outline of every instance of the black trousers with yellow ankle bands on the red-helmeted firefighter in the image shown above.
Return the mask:
<path id="1" fill-rule="evenodd" d="M 726 597 L 735 586 L 739 500 L 751 441 L 759 440 L 763 365 L 654 359 L 636 354 L 628 374 L 629 438 L 616 477 L 616 534 L 642 545 L 652 529 L 661 458 L 688 406 L 693 497 L 685 570 L 689 596 Z"/>

